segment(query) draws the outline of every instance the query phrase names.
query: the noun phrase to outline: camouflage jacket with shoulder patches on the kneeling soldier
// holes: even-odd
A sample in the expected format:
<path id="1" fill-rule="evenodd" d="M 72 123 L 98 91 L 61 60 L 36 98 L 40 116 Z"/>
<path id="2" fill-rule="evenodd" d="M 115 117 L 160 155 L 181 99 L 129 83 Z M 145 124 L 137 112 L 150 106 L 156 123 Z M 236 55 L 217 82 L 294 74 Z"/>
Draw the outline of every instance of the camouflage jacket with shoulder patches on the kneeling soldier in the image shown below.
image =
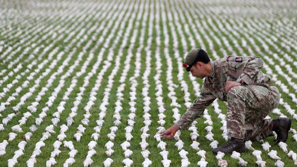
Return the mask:
<path id="1" fill-rule="evenodd" d="M 225 85 L 227 81 L 236 81 L 241 78 L 246 85 L 263 85 L 269 87 L 271 80 L 269 75 L 261 72 L 263 60 L 257 56 L 234 57 L 226 56 L 211 61 L 212 71 L 210 77 L 205 77 L 200 95 L 194 100 L 192 106 L 176 122 L 182 130 L 185 130 L 192 122 L 202 116 L 205 108 L 216 98 L 227 101 Z M 257 92 L 256 92 L 257 93 Z"/>

